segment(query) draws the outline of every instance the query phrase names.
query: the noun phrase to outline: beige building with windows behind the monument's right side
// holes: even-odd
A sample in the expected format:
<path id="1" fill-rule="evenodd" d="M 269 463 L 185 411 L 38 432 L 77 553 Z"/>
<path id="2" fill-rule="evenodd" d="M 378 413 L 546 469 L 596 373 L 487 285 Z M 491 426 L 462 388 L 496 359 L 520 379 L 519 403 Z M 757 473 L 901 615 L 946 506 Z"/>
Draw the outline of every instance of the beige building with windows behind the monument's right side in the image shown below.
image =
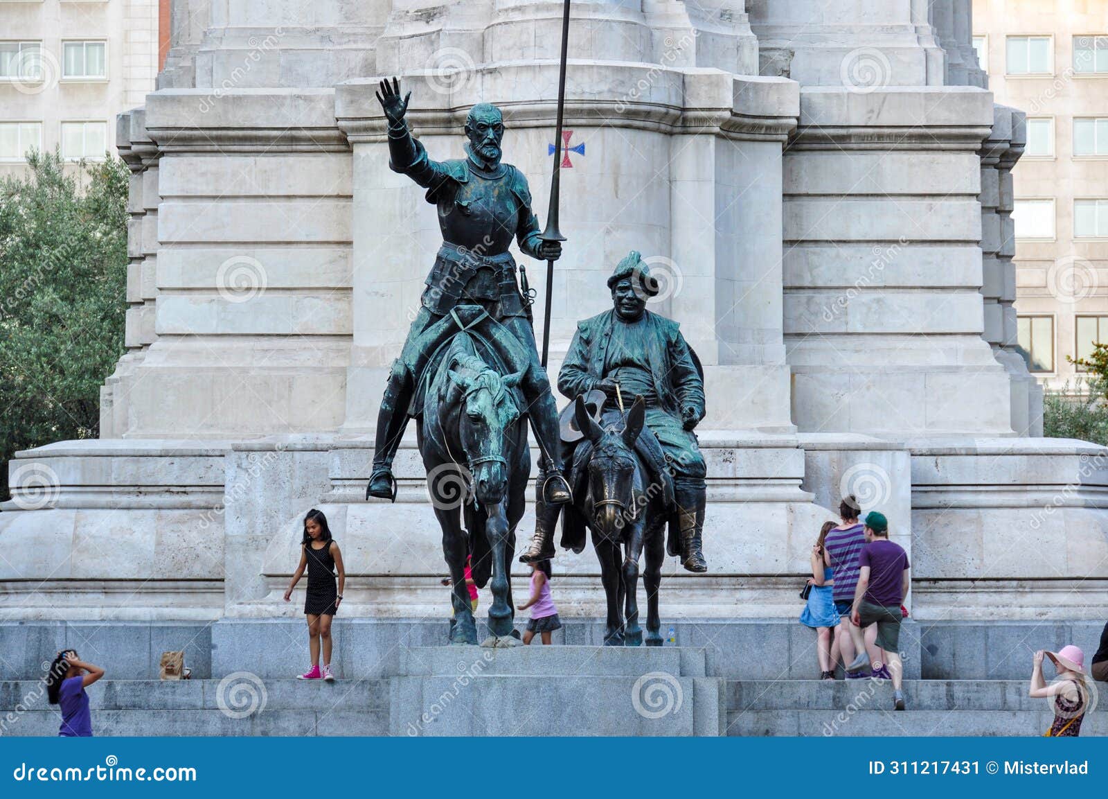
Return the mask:
<path id="1" fill-rule="evenodd" d="M 1108 2 L 975 0 L 974 47 L 996 102 L 1027 114 L 1015 181 L 1016 310 L 1028 368 L 1108 341 Z"/>

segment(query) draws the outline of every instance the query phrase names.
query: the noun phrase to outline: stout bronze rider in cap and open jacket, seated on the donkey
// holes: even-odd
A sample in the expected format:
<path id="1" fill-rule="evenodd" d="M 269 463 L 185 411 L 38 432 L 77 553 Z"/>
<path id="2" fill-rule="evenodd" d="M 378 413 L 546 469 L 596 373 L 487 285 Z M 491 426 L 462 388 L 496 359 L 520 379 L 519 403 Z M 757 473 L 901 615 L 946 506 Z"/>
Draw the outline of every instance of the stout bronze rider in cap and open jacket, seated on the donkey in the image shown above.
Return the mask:
<path id="1" fill-rule="evenodd" d="M 620 396 L 643 398 L 646 428 L 657 444 L 644 441 L 642 454 L 656 474 L 665 471 L 673 477 L 681 565 L 706 572 L 707 468 L 694 432 L 705 414 L 700 366 L 678 324 L 646 309 L 658 284 L 638 253 L 620 260 L 607 284 L 613 309 L 577 322 L 558 372 L 558 390 L 571 400 L 603 391 L 613 406 Z M 536 526 L 521 560 L 533 563 L 553 556 L 553 526 L 548 522 Z"/>

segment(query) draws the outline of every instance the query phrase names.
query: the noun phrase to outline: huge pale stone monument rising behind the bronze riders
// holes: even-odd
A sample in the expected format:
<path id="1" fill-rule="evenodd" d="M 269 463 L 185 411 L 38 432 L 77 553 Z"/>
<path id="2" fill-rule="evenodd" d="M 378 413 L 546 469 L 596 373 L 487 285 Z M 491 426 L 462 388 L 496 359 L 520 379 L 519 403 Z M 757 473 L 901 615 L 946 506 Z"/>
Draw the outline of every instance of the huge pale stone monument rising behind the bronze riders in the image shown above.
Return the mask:
<path id="1" fill-rule="evenodd" d="M 970 0 L 573 9 L 555 142 L 561 3 L 174 0 L 158 89 L 119 120 L 130 307 L 101 438 L 10 465 L 13 668 L 59 648 L 60 621 L 151 652 L 187 629 L 197 676 L 252 663 L 275 625 L 298 641 L 280 596 L 312 506 L 346 553 L 345 615 L 368 619 L 347 641 L 365 628 L 394 643 L 396 619 L 441 639 L 444 566 L 413 438 L 397 502 L 363 498 L 389 366 L 441 240 L 422 189 L 388 168 L 373 93 L 391 74 L 430 152 L 460 150 L 476 103 L 500 106 L 540 218 L 547 160 L 564 154 L 551 375 L 576 320 L 609 303 L 612 264 L 638 249 L 661 277 L 652 303 L 680 322 L 708 398 L 711 572 L 668 561 L 675 637 L 789 641 L 798 578 L 843 493 L 910 551 L 910 673 L 985 676 L 957 673 L 986 662 L 986 635 L 1102 623 L 1108 452 L 1042 438 L 1015 350 L 1024 115 L 984 88 Z M 558 570 L 563 616 L 601 616 L 592 553 Z M 372 668 L 392 667 L 382 658 Z M 991 674 L 1005 669 L 1024 666 Z"/>

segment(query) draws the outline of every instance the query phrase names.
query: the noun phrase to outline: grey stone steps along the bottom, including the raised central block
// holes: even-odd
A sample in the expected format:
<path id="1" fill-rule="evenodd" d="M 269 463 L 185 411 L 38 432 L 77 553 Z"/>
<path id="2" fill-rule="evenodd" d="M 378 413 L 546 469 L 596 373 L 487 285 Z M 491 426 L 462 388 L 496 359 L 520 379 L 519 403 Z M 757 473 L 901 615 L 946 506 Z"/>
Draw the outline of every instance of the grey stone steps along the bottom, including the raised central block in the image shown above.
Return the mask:
<path id="1" fill-rule="evenodd" d="M 907 680 L 909 709 L 895 713 L 885 682 L 725 682 L 702 676 L 702 651 L 560 649 L 412 651 L 391 679 L 104 680 L 89 694 L 98 736 L 981 737 L 1040 735 L 1051 718 L 1023 680 Z M 41 683 L 0 682 L 0 736 L 58 724 Z M 1081 735 L 1108 735 L 1108 710 L 1089 713 Z"/>

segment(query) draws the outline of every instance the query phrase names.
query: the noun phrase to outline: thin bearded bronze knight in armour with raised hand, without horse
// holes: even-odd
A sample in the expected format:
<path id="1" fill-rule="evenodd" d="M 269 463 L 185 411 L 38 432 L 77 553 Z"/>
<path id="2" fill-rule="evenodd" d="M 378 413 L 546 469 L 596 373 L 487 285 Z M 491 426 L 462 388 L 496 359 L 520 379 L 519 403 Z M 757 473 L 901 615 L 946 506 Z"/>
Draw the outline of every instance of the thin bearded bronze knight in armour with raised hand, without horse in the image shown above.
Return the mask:
<path id="1" fill-rule="evenodd" d="M 538 362 L 529 301 L 516 283 L 515 260 L 507 252 L 512 239 L 533 258 L 555 260 L 558 242 L 542 239 L 531 209 L 527 181 L 517 168 L 501 162 L 504 122 L 500 109 L 479 103 L 465 120 L 465 158 L 432 161 L 412 139 L 404 122 L 411 92 L 400 95 L 399 81 L 382 81 L 377 95 L 389 125 L 389 166 L 427 188 L 427 201 L 438 208 L 442 246 L 427 277 L 420 310 L 400 357 L 393 362 L 377 420 L 373 471 L 367 496 L 396 498 L 392 459 L 408 424 L 414 392 L 412 365 L 424 361 L 429 346 L 421 334 L 460 304 L 476 304 L 504 326 L 530 356 L 520 388 L 526 413 L 542 449 L 540 495 L 550 504 L 567 502 L 562 475 L 557 407 L 546 370 Z"/>

